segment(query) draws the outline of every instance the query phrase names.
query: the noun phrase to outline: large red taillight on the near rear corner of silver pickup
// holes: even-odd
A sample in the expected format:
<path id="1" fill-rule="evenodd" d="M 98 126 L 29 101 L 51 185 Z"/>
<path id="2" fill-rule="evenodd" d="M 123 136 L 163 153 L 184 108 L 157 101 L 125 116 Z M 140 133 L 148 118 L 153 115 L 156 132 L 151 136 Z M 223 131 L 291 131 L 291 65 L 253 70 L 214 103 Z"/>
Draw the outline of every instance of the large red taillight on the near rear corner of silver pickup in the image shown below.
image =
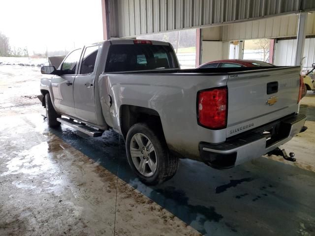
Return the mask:
<path id="1" fill-rule="evenodd" d="M 227 88 L 198 93 L 198 123 L 210 129 L 226 127 Z"/>

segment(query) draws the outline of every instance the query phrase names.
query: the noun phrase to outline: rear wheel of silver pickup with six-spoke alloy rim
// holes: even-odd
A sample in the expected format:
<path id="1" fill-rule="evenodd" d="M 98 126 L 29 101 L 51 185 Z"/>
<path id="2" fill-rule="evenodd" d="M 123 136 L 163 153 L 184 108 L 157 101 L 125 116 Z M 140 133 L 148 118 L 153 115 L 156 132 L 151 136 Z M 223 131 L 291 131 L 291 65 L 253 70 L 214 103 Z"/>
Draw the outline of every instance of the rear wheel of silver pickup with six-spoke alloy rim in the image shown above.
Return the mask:
<path id="1" fill-rule="evenodd" d="M 170 155 L 164 137 L 145 123 L 137 123 L 129 129 L 126 153 L 132 171 L 150 185 L 173 177 L 179 164 L 178 158 Z"/>

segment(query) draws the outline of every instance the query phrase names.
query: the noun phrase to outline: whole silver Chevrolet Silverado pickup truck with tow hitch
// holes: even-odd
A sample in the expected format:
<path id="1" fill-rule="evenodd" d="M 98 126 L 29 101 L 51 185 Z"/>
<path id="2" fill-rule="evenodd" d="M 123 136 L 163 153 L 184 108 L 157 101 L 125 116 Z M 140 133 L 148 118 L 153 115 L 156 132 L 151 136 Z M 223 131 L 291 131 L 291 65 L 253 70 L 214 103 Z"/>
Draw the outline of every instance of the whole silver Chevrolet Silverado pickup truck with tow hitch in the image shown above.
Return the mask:
<path id="1" fill-rule="evenodd" d="M 179 158 L 225 169 L 264 154 L 304 127 L 300 67 L 181 70 L 172 46 L 108 40 L 43 66 L 39 96 L 50 127 L 92 137 L 121 134 L 131 169 L 147 184 L 173 177 Z"/>

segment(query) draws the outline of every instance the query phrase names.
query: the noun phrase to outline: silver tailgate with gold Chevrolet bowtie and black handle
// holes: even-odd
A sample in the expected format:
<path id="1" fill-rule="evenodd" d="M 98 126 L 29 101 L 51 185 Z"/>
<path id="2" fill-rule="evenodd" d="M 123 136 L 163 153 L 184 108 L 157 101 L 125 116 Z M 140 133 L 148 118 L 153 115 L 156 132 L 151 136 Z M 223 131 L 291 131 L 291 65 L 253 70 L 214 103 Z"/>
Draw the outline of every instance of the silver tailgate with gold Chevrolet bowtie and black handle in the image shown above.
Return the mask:
<path id="1" fill-rule="evenodd" d="M 229 73 L 226 137 L 298 111 L 300 67 Z"/>

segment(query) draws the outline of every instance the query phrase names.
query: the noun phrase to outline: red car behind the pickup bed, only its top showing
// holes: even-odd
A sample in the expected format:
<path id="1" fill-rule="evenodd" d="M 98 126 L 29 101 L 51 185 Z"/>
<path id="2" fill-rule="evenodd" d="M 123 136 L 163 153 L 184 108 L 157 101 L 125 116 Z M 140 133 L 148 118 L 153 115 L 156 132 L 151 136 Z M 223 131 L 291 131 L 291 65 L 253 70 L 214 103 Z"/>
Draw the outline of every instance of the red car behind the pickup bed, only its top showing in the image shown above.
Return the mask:
<path id="1" fill-rule="evenodd" d="M 260 60 L 241 60 L 241 59 L 226 59 L 226 60 L 214 60 L 197 68 L 218 68 L 218 67 L 254 67 L 254 66 L 274 66 L 273 64 L 260 61 Z"/>

